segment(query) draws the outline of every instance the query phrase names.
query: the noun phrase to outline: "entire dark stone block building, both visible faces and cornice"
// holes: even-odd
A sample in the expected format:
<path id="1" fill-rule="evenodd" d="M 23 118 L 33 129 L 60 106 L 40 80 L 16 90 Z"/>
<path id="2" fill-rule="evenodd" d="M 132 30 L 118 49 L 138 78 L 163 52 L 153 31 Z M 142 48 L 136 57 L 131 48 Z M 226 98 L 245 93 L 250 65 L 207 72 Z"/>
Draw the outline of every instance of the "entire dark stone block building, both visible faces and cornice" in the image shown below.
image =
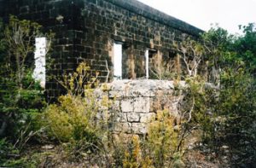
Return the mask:
<path id="1" fill-rule="evenodd" d="M 115 44 L 121 47 L 119 78 L 155 78 L 160 68 L 178 72 L 172 42 L 196 38 L 202 32 L 136 0 L 0 0 L 0 16 L 7 20 L 9 14 L 55 32 L 48 77 L 73 71 L 86 61 L 102 81 L 108 72 L 112 81 Z M 46 79 L 46 90 L 49 97 L 61 94 L 61 86 L 53 79 Z"/>

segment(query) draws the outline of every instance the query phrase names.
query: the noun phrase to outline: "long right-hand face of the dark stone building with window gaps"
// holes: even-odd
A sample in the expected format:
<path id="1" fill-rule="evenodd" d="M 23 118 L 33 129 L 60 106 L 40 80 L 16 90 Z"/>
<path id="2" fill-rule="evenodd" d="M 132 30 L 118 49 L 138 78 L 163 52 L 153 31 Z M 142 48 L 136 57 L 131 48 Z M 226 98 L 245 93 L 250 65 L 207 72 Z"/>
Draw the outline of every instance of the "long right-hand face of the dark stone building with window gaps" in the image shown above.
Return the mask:
<path id="1" fill-rule="evenodd" d="M 173 68 L 172 42 L 201 30 L 135 0 L 83 0 L 76 40 L 81 58 L 107 60 L 112 69 L 113 43 L 123 43 L 123 78 L 145 78 L 145 50 L 155 49 L 149 67 Z M 85 49 L 86 48 L 86 49 Z M 87 52 L 89 49 L 90 52 Z M 152 60 L 152 61 L 151 61 Z M 173 69 L 170 69 L 172 72 Z"/>

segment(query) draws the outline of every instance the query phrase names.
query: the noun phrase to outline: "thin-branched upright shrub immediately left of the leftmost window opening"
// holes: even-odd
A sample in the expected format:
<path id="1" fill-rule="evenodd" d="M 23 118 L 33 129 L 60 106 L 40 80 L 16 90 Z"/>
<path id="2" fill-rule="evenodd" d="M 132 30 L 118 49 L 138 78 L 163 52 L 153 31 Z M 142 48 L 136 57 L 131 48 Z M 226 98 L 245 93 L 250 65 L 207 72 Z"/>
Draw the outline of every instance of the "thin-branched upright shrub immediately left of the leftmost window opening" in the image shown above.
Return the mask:
<path id="1" fill-rule="evenodd" d="M 33 54 L 35 38 L 42 36 L 41 26 L 30 20 L 18 20 L 15 16 L 9 17 L 9 25 L 4 29 L 4 42 L 8 45 L 5 67 L 9 75 L 13 75 L 18 89 L 26 89 L 23 84 L 26 71 L 31 70 L 32 62 L 29 55 Z M 12 73 L 12 74 L 10 74 Z"/>

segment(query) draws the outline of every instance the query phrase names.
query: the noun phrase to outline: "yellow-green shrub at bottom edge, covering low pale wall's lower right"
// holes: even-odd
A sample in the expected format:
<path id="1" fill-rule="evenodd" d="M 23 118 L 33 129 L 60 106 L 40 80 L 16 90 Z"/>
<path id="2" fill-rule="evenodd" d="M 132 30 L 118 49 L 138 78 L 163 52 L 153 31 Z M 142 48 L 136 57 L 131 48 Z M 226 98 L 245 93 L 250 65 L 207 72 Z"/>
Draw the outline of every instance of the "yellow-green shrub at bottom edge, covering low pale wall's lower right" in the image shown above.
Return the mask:
<path id="1" fill-rule="evenodd" d="M 123 167 L 184 167 L 181 125 L 167 111 L 159 111 L 148 125 L 148 135 L 132 136 L 123 147 Z"/>

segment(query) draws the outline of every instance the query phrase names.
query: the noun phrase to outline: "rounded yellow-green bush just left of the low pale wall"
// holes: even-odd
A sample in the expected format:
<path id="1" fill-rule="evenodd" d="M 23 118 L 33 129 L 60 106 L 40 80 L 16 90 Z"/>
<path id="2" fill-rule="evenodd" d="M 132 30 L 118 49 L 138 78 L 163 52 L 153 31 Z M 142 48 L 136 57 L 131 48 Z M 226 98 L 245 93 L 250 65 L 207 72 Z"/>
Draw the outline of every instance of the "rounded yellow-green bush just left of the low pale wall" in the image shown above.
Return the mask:
<path id="1" fill-rule="evenodd" d="M 49 105 L 45 111 L 50 135 L 61 142 L 82 138 L 93 142 L 96 138 L 94 134 L 98 131 L 95 122 L 98 107 L 92 93 L 86 93 L 86 98 L 61 96 L 59 102 L 60 105 Z"/>

